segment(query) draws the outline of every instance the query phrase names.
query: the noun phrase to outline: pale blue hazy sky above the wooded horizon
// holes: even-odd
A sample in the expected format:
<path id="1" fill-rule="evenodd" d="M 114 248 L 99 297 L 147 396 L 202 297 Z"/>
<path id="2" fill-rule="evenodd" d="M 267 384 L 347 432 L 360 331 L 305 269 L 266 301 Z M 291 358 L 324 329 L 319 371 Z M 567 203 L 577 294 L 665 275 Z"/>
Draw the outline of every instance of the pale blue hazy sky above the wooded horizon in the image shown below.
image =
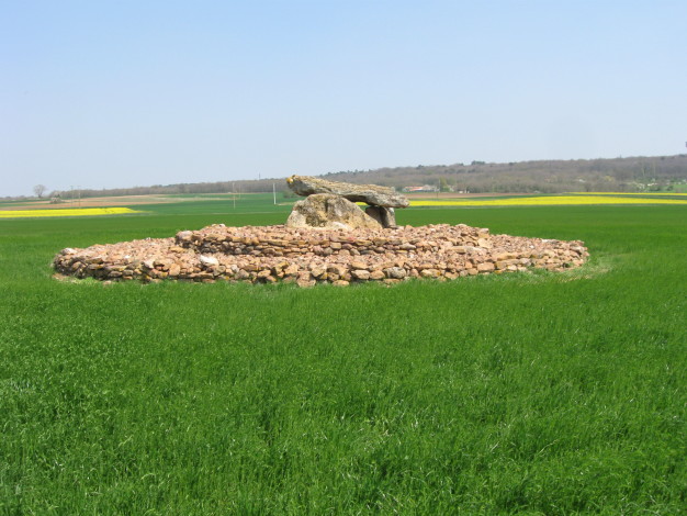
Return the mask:
<path id="1" fill-rule="evenodd" d="M 685 141 L 685 0 L 0 0 L 0 197 Z"/>

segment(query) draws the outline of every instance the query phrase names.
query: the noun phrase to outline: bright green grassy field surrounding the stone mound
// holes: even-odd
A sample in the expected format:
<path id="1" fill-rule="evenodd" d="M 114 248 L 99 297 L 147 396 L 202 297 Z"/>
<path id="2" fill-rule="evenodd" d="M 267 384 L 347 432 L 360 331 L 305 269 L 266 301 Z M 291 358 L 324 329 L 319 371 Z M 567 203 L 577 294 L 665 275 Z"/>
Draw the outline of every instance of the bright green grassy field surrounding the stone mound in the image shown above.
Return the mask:
<path id="1" fill-rule="evenodd" d="M 687 207 L 398 212 L 584 239 L 561 274 L 50 278 L 67 246 L 283 223 L 266 199 L 0 221 L 0 514 L 684 513 Z"/>

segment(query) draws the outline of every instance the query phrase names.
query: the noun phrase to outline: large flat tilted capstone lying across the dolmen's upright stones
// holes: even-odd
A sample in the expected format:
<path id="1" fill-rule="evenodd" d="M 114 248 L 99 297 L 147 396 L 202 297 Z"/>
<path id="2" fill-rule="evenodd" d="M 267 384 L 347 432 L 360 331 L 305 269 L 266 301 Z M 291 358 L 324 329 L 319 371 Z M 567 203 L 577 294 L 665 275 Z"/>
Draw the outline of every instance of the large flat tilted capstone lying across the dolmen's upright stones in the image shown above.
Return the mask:
<path id="1" fill-rule="evenodd" d="M 331 193 L 352 202 L 384 207 L 408 207 L 410 202 L 394 189 L 376 184 L 352 184 L 349 182 L 327 181 L 309 176 L 291 176 L 286 179 L 289 188 L 299 195 L 307 197 L 315 193 Z"/>

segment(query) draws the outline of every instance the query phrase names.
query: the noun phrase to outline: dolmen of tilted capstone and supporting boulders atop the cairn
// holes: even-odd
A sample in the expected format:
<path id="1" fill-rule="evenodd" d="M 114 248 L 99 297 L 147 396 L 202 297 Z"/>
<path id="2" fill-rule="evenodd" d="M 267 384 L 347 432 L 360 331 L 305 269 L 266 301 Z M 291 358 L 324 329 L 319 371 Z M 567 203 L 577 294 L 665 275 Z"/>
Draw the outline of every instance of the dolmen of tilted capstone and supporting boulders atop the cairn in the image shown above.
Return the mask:
<path id="1" fill-rule="evenodd" d="M 334 229 L 394 228 L 394 209 L 408 207 L 405 195 L 393 188 L 353 184 L 308 176 L 291 176 L 289 188 L 306 199 L 294 204 L 286 227 L 326 227 Z M 364 202 L 362 211 L 357 202 Z"/>

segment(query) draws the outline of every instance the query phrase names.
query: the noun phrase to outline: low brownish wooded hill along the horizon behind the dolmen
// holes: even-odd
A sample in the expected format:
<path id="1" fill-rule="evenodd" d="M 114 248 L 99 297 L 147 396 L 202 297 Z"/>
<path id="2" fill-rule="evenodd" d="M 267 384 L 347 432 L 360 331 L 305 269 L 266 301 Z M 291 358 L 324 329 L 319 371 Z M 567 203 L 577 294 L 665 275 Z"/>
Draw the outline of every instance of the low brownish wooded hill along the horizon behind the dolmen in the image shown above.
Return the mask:
<path id="1" fill-rule="evenodd" d="M 295 171 L 297 173 L 297 171 Z M 153 187 L 81 190 L 80 195 L 135 195 L 159 193 L 268 192 L 272 184 L 285 190 L 286 176 L 261 180 L 218 181 Z M 323 173 L 334 181 L 374 183 L 398 190 L 432 186 L 442 190 L 481 192 L 641 192 L 669 191 L 687 184 L 687 154 L 612 159 L 539 160 L 508 164 L 473 161 L 453 165 L 342 170 Z M 57 192 L 54 192 L 55 194 Z M 64 192 L 63 195 L 70 195 Z"/>

